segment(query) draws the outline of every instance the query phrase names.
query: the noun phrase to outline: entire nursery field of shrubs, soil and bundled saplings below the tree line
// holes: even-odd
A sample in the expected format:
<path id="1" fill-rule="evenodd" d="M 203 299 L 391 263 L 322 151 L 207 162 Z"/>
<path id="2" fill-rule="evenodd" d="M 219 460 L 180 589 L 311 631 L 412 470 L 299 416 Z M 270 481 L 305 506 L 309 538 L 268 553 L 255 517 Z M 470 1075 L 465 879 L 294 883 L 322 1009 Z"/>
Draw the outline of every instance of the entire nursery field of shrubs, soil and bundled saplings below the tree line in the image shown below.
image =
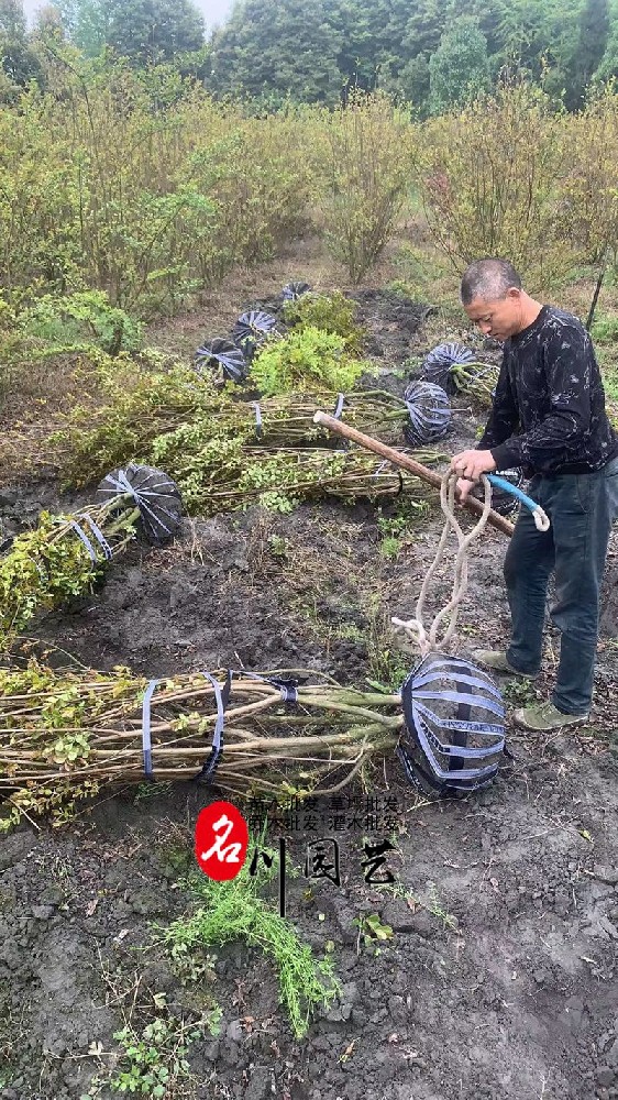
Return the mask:
<path id="1" fill-rule="evenodd" d="M 549 628 L 492 782 L 446 796 L 400 751 L 391 623 L 439 494 L 313 419 L 443 474 L 500 360 L 459 274 L 498 253 L 595 298 L 616 420 L 613 94 L 421 130 L 56 76 L 0 122 L 0 1097 L 618 1097 L 616 532 L 589 722 L 511 723 Z M 506 640 L 508 538 L 471 544 L 453 658 Z M 220 801 L 249 825 L 224 881 L 195 840 Z"/>

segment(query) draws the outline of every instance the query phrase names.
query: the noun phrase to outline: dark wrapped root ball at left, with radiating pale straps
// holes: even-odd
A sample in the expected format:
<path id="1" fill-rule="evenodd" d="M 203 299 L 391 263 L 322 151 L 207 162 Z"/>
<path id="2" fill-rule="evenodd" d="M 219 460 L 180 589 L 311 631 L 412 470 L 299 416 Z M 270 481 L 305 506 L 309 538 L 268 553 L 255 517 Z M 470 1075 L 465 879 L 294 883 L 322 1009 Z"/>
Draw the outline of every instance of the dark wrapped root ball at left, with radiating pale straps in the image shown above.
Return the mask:
<path id="1" fill-rule="evenodd" d="M 167 474 L 133 462 L 124 470 L 113 470 L 103 477 L 97 497 L 109 501 L 121 496 L 133 497 L 140 509 L 142 531 L 151 546 L 164 546 L 174 537 L 183 517 L 183 498 Z"/>

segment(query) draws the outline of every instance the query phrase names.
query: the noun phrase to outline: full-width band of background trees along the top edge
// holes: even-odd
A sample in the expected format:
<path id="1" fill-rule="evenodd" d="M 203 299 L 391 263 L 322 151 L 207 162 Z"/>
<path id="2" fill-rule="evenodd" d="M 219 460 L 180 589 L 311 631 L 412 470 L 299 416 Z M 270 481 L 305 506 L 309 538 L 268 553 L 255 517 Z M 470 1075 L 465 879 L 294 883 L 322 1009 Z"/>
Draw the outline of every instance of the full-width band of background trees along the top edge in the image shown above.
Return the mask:
<path id="1" fill-rule="evenodd" d="M 207 34 L 191 0 L 55 0 L 29 31 L 22 0 L 0 0 L 4 98 L 45 77 L 45 47 L 172 65 L 217 96 L 345 101 L 383 89 L 420 117 L 471 101 L 517 70 L 577 110 L 618 76 L 618 0 L 235 0 Z"/>

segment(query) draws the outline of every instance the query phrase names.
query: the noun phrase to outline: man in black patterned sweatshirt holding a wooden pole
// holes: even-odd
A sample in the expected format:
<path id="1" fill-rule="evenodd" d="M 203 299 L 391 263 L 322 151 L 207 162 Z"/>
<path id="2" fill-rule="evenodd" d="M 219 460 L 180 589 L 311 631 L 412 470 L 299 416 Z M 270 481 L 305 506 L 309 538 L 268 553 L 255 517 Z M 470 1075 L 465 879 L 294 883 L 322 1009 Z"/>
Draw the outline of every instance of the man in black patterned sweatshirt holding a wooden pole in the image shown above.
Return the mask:
<path id="1" fill-rule="evenodd" d="M 504 260 L 464 273 L 464 309 L 481 331 L 504 341 L 494 404 L 476 450 L 455 454 L 460 501 L 482 474 L 522 466 L 551 527 L 541 532 L 521 509 L 505 559 L 511 614 L 506 652 L 477 650 L 493 672 L 538 675 L 545 597 L 555 571 L 551 617 L 561 631 L 551 701 L 516 712 L 516 724 L 553 730 L 586 722 L 598 637 L 599 588 L 618 514 L 618 439 L 605 411 L 593 345 L 572 314 L 542 306 Z"/>

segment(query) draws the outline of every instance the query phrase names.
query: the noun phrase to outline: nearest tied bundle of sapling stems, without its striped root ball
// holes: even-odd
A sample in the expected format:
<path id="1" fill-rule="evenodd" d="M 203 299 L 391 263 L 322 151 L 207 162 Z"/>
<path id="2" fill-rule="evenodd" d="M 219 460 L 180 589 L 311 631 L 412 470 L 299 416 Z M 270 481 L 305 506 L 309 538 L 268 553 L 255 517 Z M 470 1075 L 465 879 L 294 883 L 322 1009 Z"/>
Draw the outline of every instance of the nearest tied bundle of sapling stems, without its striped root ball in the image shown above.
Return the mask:
<path id="1" fill-rule="evenodd" d="M 144 777 L 243 795 L 339 791 L 393 752 L 401 701 L 316 679 L 0 670 L 0 793 L 15 813 L 48 813 Z"/>

